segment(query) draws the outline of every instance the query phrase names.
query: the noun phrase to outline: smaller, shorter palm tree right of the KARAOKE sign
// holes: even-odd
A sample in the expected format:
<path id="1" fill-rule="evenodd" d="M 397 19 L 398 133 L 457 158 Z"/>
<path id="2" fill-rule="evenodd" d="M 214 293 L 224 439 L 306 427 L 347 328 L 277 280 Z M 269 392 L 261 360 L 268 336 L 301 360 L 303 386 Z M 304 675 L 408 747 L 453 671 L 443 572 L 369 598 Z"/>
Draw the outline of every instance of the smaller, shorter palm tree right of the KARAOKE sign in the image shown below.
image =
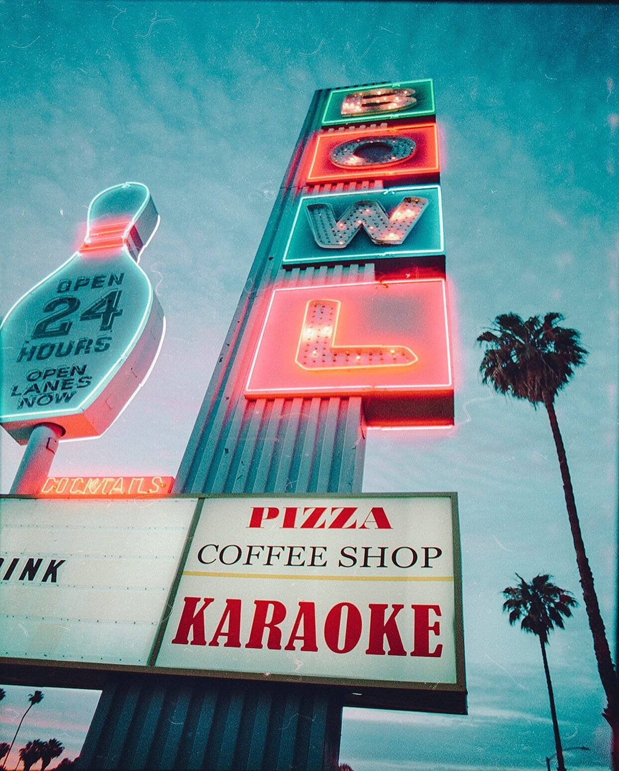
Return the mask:
<path id="1" fill-rule="evenodd" d="M 550 715 L 553 719 L 554 743 L 557 746 L 557 768 L 558 771 L 565 771 L 563 763 L 563 749 L 561 747 L 561 738 L 559 735 L 559 723 L 557 722 L 557 710 L 554 706 L 553 685 L 550 682 L 550 670 L 548 669 L 548 659 L 546 657 L 546 646 L 548 643 L 548 632 L 555 625 L 563 629 L 563 616 L 569 618 L 572 614 L 570 608 L 574 608 L 578 603 L 572 597 L 570 591 L 561 589 L 551 584 L 550 575 L 540 575 L 533 578 L 530 584 L 527 584 L 523 577 L 516 573 L 520 578 L 520 584 L 514 587 L 503 589 L 503 596 L 507 599 L 503 603 L 503 610 L 510 611 L 510 624 L 520 621 L 520 628 L 524 631 L 532 632 L 540 638 L 542 648 L 543 671 L 546 675 L 546 685 L 548 686 L 548 698 L 550 699 Z"/>

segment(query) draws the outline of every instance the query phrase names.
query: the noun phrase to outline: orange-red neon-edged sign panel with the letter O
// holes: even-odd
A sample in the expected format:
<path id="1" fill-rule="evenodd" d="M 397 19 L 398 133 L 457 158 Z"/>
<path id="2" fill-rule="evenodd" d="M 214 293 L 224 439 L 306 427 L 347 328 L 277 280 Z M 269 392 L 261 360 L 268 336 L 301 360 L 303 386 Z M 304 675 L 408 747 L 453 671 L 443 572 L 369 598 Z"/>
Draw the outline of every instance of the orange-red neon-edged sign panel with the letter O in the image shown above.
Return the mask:
<path id="1" fill-rule="evenodd" d="M 436 123 L 318 134 L 308 182 L 397 179 L 439 173 Z"/>

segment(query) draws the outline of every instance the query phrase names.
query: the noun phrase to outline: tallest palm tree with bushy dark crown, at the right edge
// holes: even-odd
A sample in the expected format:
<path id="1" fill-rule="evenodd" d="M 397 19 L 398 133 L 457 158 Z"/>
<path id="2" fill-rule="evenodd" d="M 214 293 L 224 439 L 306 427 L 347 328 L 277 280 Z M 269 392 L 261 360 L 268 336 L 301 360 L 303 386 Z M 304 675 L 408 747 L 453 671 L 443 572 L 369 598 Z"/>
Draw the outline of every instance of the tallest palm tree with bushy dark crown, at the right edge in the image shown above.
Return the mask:
<path id="1" fill-rule="evenodd" d="M 537 405 L 543 404 L 548 412 L 576 550 L 580 585 L 594 639 L 597 671 L 607 699 L 604 717 L 613 732 L 613 768 L 619 771 L 619 681 L 597 601 L 593 573 L 584 550 L 570 469 L 554 411 L 557 393 L 570 381 L 574 369 L 584 364 L 587 351 L 580 346 L 580 333 L 576 329 L 561 327 L 559 322 L 562 321 L 560 313 L 547 313 L 543 318 L 532 316 L 526 322 L 515 313 L 497 316 L 493 327 L 477 338 L 480 345 L 486 343 L 479 371 L 483 375 L 483 382 L 492 383 L 496 391 L 510 394 L 516 399 L 526 399 L 536 409 Z"/>

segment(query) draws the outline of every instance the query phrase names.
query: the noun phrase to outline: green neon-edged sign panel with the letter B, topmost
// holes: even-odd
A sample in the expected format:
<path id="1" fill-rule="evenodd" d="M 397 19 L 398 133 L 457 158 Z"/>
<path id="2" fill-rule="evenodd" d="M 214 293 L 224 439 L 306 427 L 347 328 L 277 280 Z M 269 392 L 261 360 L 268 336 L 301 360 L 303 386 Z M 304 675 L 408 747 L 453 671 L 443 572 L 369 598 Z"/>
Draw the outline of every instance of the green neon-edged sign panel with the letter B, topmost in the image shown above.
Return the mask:
<path id="1" fill-rule="evenodd" d="M 334 89 L 329 94 L 322 125 L 367 123 L 368 120 L 434 115 L 431 79 Z"/>

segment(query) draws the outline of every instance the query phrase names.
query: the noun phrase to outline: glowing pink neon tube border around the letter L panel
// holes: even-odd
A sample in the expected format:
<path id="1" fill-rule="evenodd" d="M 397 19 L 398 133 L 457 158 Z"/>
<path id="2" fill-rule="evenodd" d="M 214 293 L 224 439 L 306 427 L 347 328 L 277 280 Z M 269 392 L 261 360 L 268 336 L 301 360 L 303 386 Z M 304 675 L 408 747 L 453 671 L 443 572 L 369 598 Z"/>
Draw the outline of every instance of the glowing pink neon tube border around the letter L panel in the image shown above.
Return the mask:
<path id="1" fill-rule="evenodd" d="M 440 284 L 442 284 L 442 307 L 443 307 L 443 314 L 445 316 L 445 338 L 446 338 L 446 350 L 447 350 L 447 372 L 449 373 L 449 382 L 447 383 L 432 383 L 429 385 L 368 385 L 368 384 L 359 384 L 359 385 L 335 385 L 332 388 L 326 388 L 325 386 L 317 387 L 317 386 L 311 386 L 308 388 L 300 388 L 297 387 L 296 389 L 292 388 L 286 388 L 286 389 L 251 389 L 250 388 L 250 382 L 251 377 L 254 375 L 254 367 L 257 362 L 258 353 L 260 352 L 260 347 L 262 345 L 262 338 L 264 337 L 264 331 L 267 328 L 267 322 L 269 320 L 269 315 L 271 314 L 271 307 L 273 305 L 275 294 L 278 291 L 299 291 L 300 289 L 302 291 L 307 291 L 308 289 L 331 289 L 334 288 L 343 288 L 343 287 L 355 287 L 355 286 L 365 286 L 367 284 L 372 284 L 373 286 L 379 286 L 380 284 L 427 284 L 430 281 L 439 281 Z M 274 289 L 271 294 L 271 299 L 269 300 L 269 305 L 267 308 L 267 314 L 264 317 L 264 323 L 262 325 L 262 329 L 260 332 L 260 337 L 258 338 L 258 342 L 256 345 L 256 352 L 254 353 L 254 359 L 252 359 L 251 367 L 249 371 L 249 375 L 247 377 L 247 382 L 245 384 L 244 389 L 244 396 L 247 398 L 247 396 L 252 396 L 256 399 L 261 398 L 261 394 L 264 394 L 265 396 L 262 397 L 264 399 L 268 399 L 269 395 L 278 393 L 281 394 L 281 396 L 291 396 L 291 393 L 294 392 L 295 396 L 291 396 L 291 398 L 296 398 L 296 396 L 301 396 L 301 393 L 308 393 L 308 392 L 317 392 L 317 393 L 326 393 L 330 394 L 335 391 L 349 391 L 352 392 L 352 396 L 365 396 L 365 393 L 358 394 L 359 391 L 362 389 L 365 389 L 366 392 L 374 393 L 378 390 L 381 391 L 387 391 L 387 392 L 393 392 L 396 390 L 400 391 L 436 391 L 437 389 L 440 390 L 453 390 L 453 377 L 452 377 L 452 357 L 451 357 L 451 348 L 449 347 L 449 319 L 447 316 L 447 281 L 445 278 L 399 278 L 395 279 L 395 281 L 353 281 L 350 284 L 318 284 L 316 286 L 311 287 L 282 287 L 279 289 Z M 277 398 L 277 397 L 274 397 Z M 442 427 L 442 426 L 441 426 Z M 446 426 L 446 428 L 452 428 L 453 426 L 449 425 Z"/>

